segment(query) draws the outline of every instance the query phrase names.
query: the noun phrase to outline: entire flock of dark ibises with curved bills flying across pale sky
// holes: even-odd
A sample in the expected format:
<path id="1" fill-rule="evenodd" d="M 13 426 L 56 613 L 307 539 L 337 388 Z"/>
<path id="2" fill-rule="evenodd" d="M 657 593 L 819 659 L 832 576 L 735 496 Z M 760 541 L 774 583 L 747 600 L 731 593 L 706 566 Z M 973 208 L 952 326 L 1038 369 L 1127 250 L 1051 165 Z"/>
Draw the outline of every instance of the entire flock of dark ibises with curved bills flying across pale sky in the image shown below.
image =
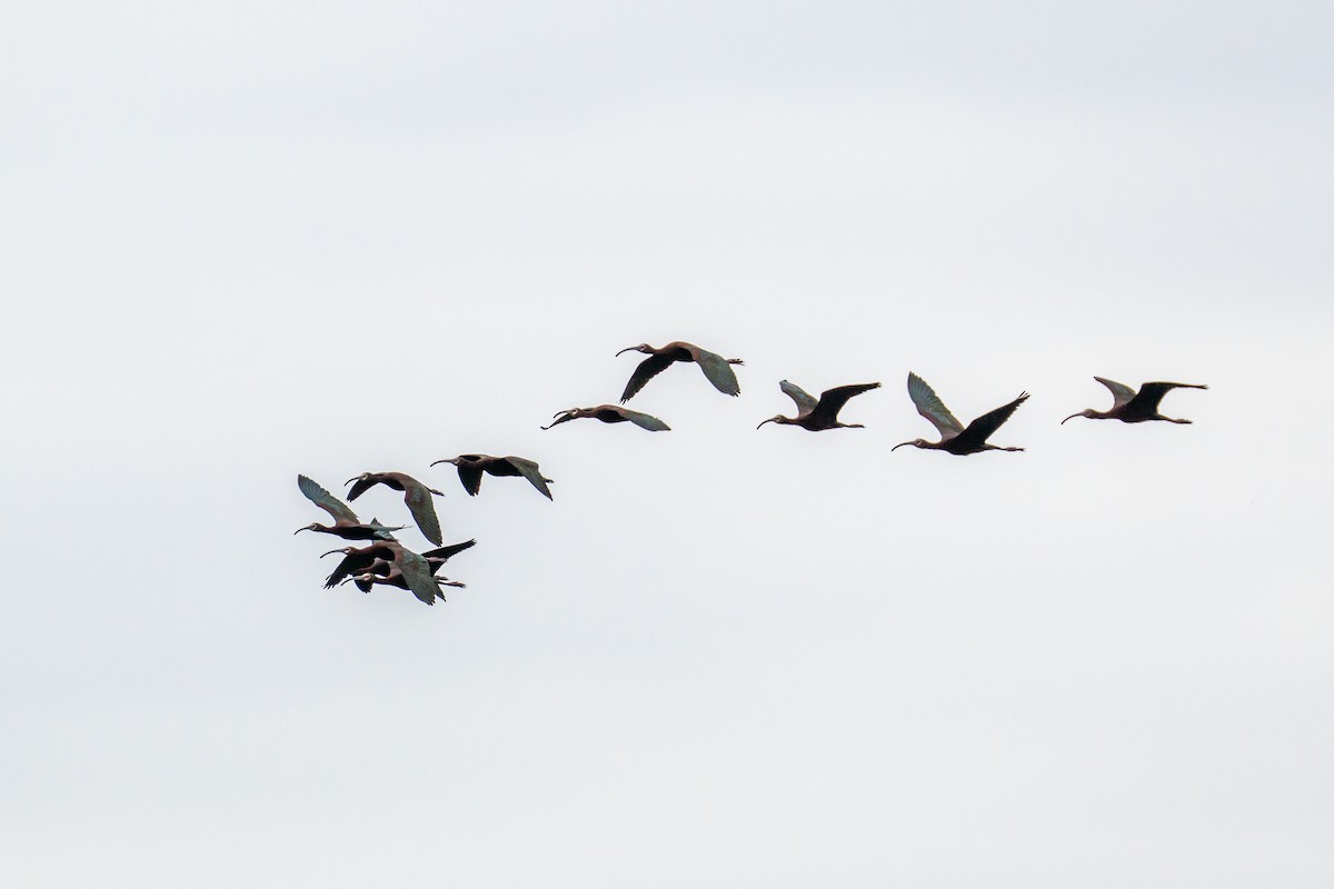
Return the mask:
<path id="1" fill-rule="evenodd" d="M 639 411 L 631 411 L 624 407 L 624 403 L 630 401 L 630 399 L 643 389 L 650 380 L 676 363 L 696 364 L 715 389 L 723 395 L 740 395 L 740 384 L 738 384 L 736 373 L 732 371 L 734 364 L 742 364 L 740 359 L 724 359 L 691 343 L 680 341 L 668 343 L 662 348 L 654 348 L 647 343 L 640 343 L 639 345 L 622 349 L 616 355 L 619 356 L 626 352 L 642 352 L 648 357 L 640 361 L 639 367 L 635 368 L 630 381 L 626 384 L 624 392 L 620 395 L 619 405 L 600 404 L 592 408 L 570 408 L 567 411 L 560 411 L 555 415 L 552 423 L 542 427 L 542 429 L 551 429 L 552 427 L 571 420 L 591 419 L 602 423 L 634 423 L 639 428 L 650 432 L 666 432 L 671 428 L 666 423 L 655 416 L 640 413 Z M 1121 420 L 1122 423 L 1147 423 L 1150 420 L 1190 423 L 1190 420 L 1165 417 L 1159 413 L 1158 405 L 1162 403 L 1163 396 L 1173 389 L 1209 388 L 1206 385 L 1193 383 L 1146 383 L 1135 391 L 1114 380 L 1106 380 L 1103 377 L 1094 377 L 1094 380 L 1111 391 L 1111 408 L 1107 411 L 1095 411 L 1089 408 L 1087 411 L 1073 413 L 1061 421 L 1062 425 L 1075 417 L 1089 417 L 1090 420 Z M 766 423 L 800 427 L 808 432 L 824 432 L 827 429 L 860 429 L 862 424 L 842 423 L 838 419 L 838 415 L 852 397 L 880 387 L 879 383 L 842 385 L 826 389 L 818 399 L 815 399 L 800 387 L 788 383 L 787 380 L 783 380 L 778 385 L 796 404 L 796 416 L 788 417 L 784 415 L 776 415 L 760 423 L 759 427 L 755 427 L 756 429 L 763 427 Z M 930 450 L 944 450 L 958 456 L 980 453 L 983 450 L 1023 450 L 1023 448 L 994 445 L 990 444 L 987 439 L 990 439 L 991 435 L 995 433 L 995 431 L 999 429 L 1011 415 L 1014 415 L 1019 405 L 1027 400 L 1027 392 L 1021 393 L 1018 399 L 1000 405 L 995 411 L 983 413 L 968 425 L 959 423 L 955 416 L 950 413 L 950 409 L 944 407 L 944 403 L 940 401 L 940 397 L 936 396 L 935 391 L 927 385 L 926 380 L 915 373 L 908 373 L 908 397 L 911 397 L 912 404 L 916 405 L 918 413 L 926 417 L 931 425 L 936 428 L 940 439 L 938 441 L 914 439 L 912 441 L 904 441 L 895 445 L 891 450 L 898 450 L 906 445 Z M 548 485 L 554 484 L 554 480 L 543 476 L 542 469 L 532 460 L 514 456 L 492 457 L 484 453 L 466 453 L 459 454 L 458 457 L 450 457 L 448 460 L 436 460 L 431 465 L 435 466 L 442 462 L 452 464 L 458 469 L 459 481 L 463 484 L 464 490 L 467 490 L 471 496 L 476 496 L 482 489 L 483 474 L 492 474 L 500 477 L 527 478 L 539 493 L 548 500 L 552 500 L 551 488 L 548 488 Z M 370 592 L 374 585 L 382 584 L 386 586 L 407 589 L 420 601 L 427 605 L 434 605 L 436 598 L 440 598 L 442 601 L 444 600 L 444 594 L 442 592 L 443 586 L 464 585 L 438 573 L 451 557 L 476 544 L 475 540 L 467 540 L 459 544 L 450 544 L 447 546 L 443 545 L 444 540 L 440 534 L 440 521 L 436 518 L 435 504 L 432 501 L 434 494 L 443 494 L 443 492 L 436 490 L 435 488 L 428 488 L 412 476 L 402 472 L 366 472 L 354 478 L 348 478 L 344 482 L 351 485 L 347 492 L 348 500 L 356 500 L 375 485 L 386 485 L 394 490 L 402 490 L 403 502 L 407 504 L 408 512 L 411 513 L 418 529 L 436 546 L 435 549 L 427 549 L 418 553 L 404 546 L 394 536 L 394 532 L 403 530 L 407 525 L 382 525 L 379 518 L 371 518 L 370 522 L 363 522 L 356 517 L 356 513 L 352 512 L 351 506 L 331 494 L 311 478 L 297 476 L 296 484 L 301 493 L 305 494 L 316 506 L 334 517 L 334 524 L 321 525 L 319 522 L 312 522 L 304 528 L 297 528 L 293 533 L 317 530 L 320 533 L 342 537 L 343 540 L 368 541 L 364 546 L 342 546 L 324 553 L 324 556 L 336 553 L 343 554 L 343 560 L 328 574 L 328 577 L 325 577 L 325 589 L 352 582 L 362 592 Z"/>

